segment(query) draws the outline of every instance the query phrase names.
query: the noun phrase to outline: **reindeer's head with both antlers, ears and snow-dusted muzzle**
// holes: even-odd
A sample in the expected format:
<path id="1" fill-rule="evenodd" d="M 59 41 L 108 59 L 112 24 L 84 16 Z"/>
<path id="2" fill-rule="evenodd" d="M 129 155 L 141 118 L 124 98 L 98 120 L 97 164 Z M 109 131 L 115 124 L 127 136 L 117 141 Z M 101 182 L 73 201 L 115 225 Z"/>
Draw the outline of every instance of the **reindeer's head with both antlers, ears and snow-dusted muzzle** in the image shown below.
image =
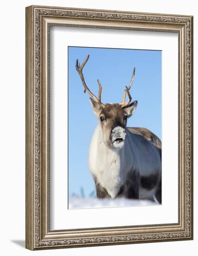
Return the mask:
<path id="1" fill-rule="evenodd" d="M 98 118 L 99 124 L 101 126 L 102 131 L 102 141 L 106 146 L 110 148 L 122 148 L 124 146 L 126 140 L 126 126 L 128 117 L 132 116 L 136 107 L 137 101 L 133 101 L 132 97 L 129 93 L 131 85 L 134 80 L 135 68 L 130 81 L 129 86 L 126 86 L 124 90 L 124 94 L 122 97 L 121 103 L 118 104 L 103 104 L 101 102 L 101 94 L 102 94 L 102 86 L 99 80 L 97 80 L 99 85 L 98 97 L 91 93 L 89 88 L 87 87 L 84 77 L 83 77 L 83 67 L 87 63 L 89 59 L 89 55 L 87 55 L 86 59 L 83 61 L 82 65 L 78 64 L 78 60 L 76 61 L 76 69 L 80 78 L 83 82 L 84 93 L 86 90 L 92 98 L 89 98 L 91 106 L 95 115 Z M 126 94 L 128 94 L 129 100 L 125 102 Z"/>

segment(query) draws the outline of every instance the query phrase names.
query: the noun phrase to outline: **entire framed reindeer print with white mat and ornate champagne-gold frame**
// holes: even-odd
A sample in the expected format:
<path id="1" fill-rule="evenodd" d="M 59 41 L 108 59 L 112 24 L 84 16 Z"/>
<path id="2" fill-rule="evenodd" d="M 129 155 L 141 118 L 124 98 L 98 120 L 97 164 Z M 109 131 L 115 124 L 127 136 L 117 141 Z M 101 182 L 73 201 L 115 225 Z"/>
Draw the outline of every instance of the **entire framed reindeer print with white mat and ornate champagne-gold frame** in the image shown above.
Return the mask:
<path id="1" fill-rule="evenodd" d="M 26 7 L 26 248 L 193 238 L 193 17 Z"/>

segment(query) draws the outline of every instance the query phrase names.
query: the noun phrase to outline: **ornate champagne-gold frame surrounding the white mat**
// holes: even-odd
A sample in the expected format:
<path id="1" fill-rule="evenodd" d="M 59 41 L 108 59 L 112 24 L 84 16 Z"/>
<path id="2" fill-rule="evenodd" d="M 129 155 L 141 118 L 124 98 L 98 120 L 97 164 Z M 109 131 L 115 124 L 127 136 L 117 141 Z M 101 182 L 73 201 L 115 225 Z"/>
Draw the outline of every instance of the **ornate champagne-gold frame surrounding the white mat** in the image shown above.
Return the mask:
<path id="1" fill-rule="evenodd" d="M 178 222 L 51 230 L 50 27 L 178 34 Z M 26 7 L 26 248 L 58 249 L 193 239 L 193 17 Z"/>

